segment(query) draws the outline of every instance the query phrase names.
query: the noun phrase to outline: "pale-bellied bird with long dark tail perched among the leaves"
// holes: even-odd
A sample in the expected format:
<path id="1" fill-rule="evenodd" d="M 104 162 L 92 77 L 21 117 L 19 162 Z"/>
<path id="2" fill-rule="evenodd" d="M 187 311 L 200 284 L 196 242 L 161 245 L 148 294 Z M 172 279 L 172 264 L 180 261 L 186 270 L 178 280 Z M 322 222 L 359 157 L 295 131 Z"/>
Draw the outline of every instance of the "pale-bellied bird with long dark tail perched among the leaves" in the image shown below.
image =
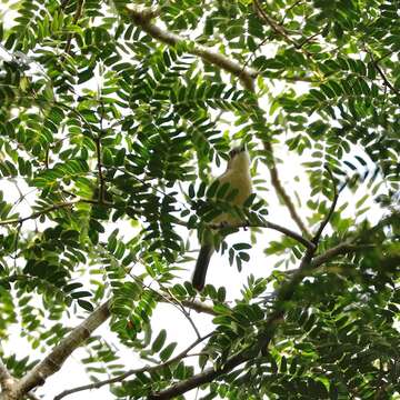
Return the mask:
<path id="1" fill-rule="evenodd" d="M 237 190 L 237 194 L 231 200 L 232 206 L 243 206 L 246 200 L 252 192 L 251 176 L 250 176 L 250 156 L 246 144 L 236 147 L 229 152 L 229 160 L 227 170 L 217 178 L 219 184 L 229 183 L 230 190 Z M 222 213 L 211 221 L 211 224 L 233 226 L 243 222 L 238 217 L 231 213 Z M 206 276 L 208 266 L 214 246 L 210 239 L 201 240 L 201 248 L 196 262 L 194 272 L 192 276 L 192 286 L 199 292 L 202 291 L 206 283 Z"/>

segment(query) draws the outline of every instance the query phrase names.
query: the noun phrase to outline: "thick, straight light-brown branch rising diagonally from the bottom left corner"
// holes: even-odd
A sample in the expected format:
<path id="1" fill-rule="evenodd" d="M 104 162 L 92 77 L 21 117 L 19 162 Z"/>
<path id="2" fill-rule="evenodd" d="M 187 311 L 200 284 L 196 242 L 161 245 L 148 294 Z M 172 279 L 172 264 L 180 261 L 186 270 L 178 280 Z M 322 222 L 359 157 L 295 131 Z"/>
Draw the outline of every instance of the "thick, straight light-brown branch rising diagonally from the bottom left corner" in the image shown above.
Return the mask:
<path id="1" fill-rule="evenodd" d="M 56 373 L 71 353 L 79 348 L 110 317 L 110 300 L 96 309 L 81 324 L 74 328 L 61 342 L 18 384 L 18 392 L 22 396 L 37 386 L 43 384 L 46 379 Z"/>

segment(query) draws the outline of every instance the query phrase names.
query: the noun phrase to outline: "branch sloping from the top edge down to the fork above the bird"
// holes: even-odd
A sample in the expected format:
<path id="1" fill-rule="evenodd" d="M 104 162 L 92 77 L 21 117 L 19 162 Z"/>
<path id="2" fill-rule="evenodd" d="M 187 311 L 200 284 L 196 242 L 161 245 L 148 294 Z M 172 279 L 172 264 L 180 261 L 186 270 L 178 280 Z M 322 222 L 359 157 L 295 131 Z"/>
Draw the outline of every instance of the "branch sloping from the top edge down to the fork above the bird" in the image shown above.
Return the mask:
<path id="1" fill-rule="evenodd" d="M 151 19 L 158 16 L 157 9 L 139 9 L 138 7 L 131 6 L 128 10 L 132 21 L 139 26 L 144 32 L 150 34 L 152 38 L 170 46 L 177 46 L 182 42 L 188 42 L 189 39 L 179 34 L 169 32 L 168 30 L 161 29 L 151 22 Z M 201 46 L 192 42 L 192 47 L 189 50 L 194 56 L 199 56 L 203 61 L 207 61 L 216 67 L 223 69 L 224 71 L 232 73 L 238 77 L 243 87 L 250 91 L 254 90 L 254 78 L 257 71 L 250 68 L 243 68 L 238 61 L 232 60 L 219 52 L 212 51 L 206 46 Z"/>

